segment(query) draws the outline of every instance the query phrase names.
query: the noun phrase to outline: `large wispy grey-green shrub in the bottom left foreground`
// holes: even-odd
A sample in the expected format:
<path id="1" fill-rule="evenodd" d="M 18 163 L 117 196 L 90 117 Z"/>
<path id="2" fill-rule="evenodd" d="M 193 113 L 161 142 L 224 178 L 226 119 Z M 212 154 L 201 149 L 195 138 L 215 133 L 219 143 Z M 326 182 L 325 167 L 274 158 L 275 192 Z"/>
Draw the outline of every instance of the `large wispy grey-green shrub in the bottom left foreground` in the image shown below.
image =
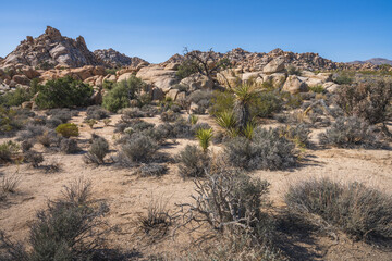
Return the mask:
<path id="1" fill-rule="evenodd" d="M 48 202 L 30 225 L 28 251 L 2 235 L 10 260 L 101 260 L 97 251 L 108 231 L 102 220 L 108 207 L 90 200 L 90 183 L 65 186 L 63 197 Z"/>

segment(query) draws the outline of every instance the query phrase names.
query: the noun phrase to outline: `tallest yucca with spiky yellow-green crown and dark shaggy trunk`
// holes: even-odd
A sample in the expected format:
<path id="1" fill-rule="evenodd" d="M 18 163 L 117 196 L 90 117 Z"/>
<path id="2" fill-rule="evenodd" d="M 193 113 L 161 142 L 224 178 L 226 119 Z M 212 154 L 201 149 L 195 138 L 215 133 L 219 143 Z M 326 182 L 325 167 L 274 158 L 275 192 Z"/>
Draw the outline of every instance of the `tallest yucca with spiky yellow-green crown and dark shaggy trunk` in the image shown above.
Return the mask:
<path id="1" fill-rule="evenodd" d="M 241 129 L 246 127 L 250 121 L 250 104 L 256 100 L 259 90 L 256 85 L 245 83 L 233 88 L 234 92 L 234 111 L 237 117 L 237 125 Z"/>

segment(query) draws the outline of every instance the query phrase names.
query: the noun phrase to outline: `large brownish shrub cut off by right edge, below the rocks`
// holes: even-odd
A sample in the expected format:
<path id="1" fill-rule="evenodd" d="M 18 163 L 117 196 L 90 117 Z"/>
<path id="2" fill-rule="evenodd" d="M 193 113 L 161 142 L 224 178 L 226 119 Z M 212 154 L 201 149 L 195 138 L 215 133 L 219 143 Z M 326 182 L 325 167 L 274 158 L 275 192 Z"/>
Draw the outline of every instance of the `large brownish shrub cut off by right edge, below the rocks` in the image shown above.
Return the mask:
<path id="1" fill-rule="evenodd" d="M 392 82 L 366 82 L 345 85 L 338 89 L 336 104 L 347 116 L 358 116 L 370 124 L 383 123 L 391 115 Z"/>

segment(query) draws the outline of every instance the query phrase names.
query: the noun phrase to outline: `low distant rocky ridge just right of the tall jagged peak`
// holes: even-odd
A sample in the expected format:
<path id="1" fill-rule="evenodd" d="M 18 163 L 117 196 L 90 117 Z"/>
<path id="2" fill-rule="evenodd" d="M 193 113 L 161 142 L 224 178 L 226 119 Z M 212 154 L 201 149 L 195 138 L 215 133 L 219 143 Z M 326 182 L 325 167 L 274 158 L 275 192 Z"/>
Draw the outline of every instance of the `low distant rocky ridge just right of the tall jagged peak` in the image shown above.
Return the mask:
<path id="1" fill-rule="evenodd" d="M 95 50 L 94 54 L 100 60 L 103 61 L 108 66 L 111 67 L 121 67 L 121 66 L 132 66 L 137 67 L 142 63 L 147 63 L 147 61 L 133 57 L 130 58 L 123 53 L 120 53 L 113 49 L 103 49 L 103 50 Z"/>

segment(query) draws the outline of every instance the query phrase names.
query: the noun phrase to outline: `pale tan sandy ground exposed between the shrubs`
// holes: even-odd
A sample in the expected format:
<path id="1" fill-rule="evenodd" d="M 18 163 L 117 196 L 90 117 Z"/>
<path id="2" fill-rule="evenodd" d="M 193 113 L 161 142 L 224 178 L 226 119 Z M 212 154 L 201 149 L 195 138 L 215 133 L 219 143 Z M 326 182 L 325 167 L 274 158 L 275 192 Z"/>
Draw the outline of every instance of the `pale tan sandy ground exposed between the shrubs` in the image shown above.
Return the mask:
<path id="1" fill-rule="evenodd" d="M 120 115 L 111 116 L 110 126 L 99 122 L 91 130 L 83 124 L 84 112 L 72 122 L 78 124 L 81 136 L 79 145 L 83 150 L 88 149 L 86 140 L 91 132 L 103 136 L 113 145 L 113 125 L 120 120 Z M 156 119 L 145 119 L 147 122 L 159 123 Z M 215 123 L 208 116 L 200 116 L 199 122 Z M 4 141 L 1 140 L 0 142 Z M 187 144 L 196 144 L 196 140 L 177 139 L 176 144 L 166 146 L 160 151 L 176 154 Z M 42 150 L 38 145 L 35 147 Z M 221 148 L 213 147 L 213 151 Z M 114 153 L 114 152 L 113 152 Z M 174 203 L 191 200 L 194 184 L 192 181 L 183 181 L 177 174 L 174 163 L 168 163 L 169 173 L 161 178 L 138 177 L 133 174 L 134 170 L 118 169 L 111 164 L 95 166 L 83 162 L 83 153 L 61 154 L 45 153 L 46 161 L 42 164 L 57 162 L 61 166 L 59 173 L 45 173 L 22 165 L 1 166 L 0 172 L 5 175 L 19 172 L 22 182 L 17 192 L 11 195 L 5 203 L 0 206 L 0 228 L 4 229 L 12 239 L 24 240 L 28 235 L 28 226 L 34 221 L 36 212 L 46 207 L 48 199 L 61 196 L 64 185 L 76 178 L 90 179 L 94 185 L 94 196 L 105 200 L 110 212 L 107 217 L 111 225 L 118 226 L 118 232 L 109 236 L 112 247 L 121 249 L 137 249 L 143 256 L 163 251 L 180 251 L 188 244 L 185 235 L 177 239 L 167 239 L 162 243 L 146 244 L 135 236 L 135 222 L 139 215 L 146 212 L 151 199 L 159 199 L 168 208 L 174 210 Z M 256 171 L 252 175 L 269 181 L 271 184 L 271 199 L 275 207 L 282 207 L 283 196 L 290 184 L 313 177 L 331 177 L 335 181 L 357 181 L 368 186 L 377 187 L 382 191 L 392 194 L 392 151 L 391 150 L 362 150 L 362 149 L 314 149 L 307 150 L 299 167 L 287 171 Z M 363 243 L 352 243 L 341 239 L 338 245 L 324 238 L 316 238 L 315 241 L 296 239 L 301 248 L 298 260 L 392 260 L 392 253 L 381 251 Z M 331 247 L 331 246 L 332 247 Z M 307 256 L 304 256 L 304 254 Z"/>

